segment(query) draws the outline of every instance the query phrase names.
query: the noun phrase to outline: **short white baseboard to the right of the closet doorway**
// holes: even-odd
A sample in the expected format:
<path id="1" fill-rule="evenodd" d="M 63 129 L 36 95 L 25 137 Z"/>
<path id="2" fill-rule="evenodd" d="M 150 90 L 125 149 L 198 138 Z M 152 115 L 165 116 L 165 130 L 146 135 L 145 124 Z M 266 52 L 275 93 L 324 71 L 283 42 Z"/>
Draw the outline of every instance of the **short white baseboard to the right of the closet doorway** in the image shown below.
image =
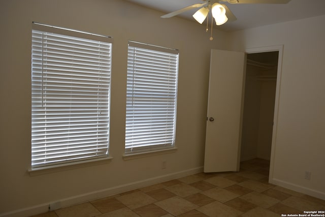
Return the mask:
<path id="1" fill-rule="evenodd" d="M 309 195 L 309 196 L 312 196 L 312 197 L 316 197 L 316 198 L 325 200 L 325 193 L 324 192 L 319 192 L 319 191 L 316 191 L 316 190 L 313 190 L 313 189 L 305 188 L 305 187 L 303 187 L 301 185 L 297 185 L 297 184 L 293 184 L 293 183 L 290 183 L 290 182 L 282 181 L 282 180 L 276 179 L 276 178 L 271 179 L 270 182 L 272 184 L 279 185 L 280 187 L 283 187 L 283 188 L 286 188 L 286 189 L 290 189 L 290 190 L 293 190 L 293 191 L 296 191 L 296 192 L 300 192 L 300 193 L 303 193 L 303 194 L 306 194 L 306 195 Z"/>

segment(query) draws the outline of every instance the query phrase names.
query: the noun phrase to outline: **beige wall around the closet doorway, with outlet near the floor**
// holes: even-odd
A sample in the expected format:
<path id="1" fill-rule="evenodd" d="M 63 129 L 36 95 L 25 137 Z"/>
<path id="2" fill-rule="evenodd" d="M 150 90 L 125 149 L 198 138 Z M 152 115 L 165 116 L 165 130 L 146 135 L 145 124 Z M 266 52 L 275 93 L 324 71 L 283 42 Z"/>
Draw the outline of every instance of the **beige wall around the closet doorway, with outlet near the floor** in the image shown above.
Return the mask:
<path id="1" fill-rule="evenodd" d="M 273 183 L 325 199 L 325 16 L 232 33 L 232 49 L 283 45 Z M 272 159 L 271 159 L 272 161 Z M 311 179 L 304 179 L 305 171 Z"/>

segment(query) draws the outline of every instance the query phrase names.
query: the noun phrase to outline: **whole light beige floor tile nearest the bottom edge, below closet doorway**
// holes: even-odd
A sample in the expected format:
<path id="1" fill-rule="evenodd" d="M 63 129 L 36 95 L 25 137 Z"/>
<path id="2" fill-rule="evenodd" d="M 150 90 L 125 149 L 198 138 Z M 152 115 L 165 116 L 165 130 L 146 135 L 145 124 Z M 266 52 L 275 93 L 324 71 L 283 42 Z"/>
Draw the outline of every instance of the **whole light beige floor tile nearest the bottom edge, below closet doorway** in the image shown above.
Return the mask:
<path id="1" fill-rule="evenodd" d="M 280 202 L 279 200 L 273 197 L 269 197 L 267 195 L 257 193 L 257 192 L 251 192 L 246 195 L 243 195 L 240 197 L 240 199 L 246 200 L 250 203 L 253 203 L 257 206 L 261 206 L 266 209 Z"/>

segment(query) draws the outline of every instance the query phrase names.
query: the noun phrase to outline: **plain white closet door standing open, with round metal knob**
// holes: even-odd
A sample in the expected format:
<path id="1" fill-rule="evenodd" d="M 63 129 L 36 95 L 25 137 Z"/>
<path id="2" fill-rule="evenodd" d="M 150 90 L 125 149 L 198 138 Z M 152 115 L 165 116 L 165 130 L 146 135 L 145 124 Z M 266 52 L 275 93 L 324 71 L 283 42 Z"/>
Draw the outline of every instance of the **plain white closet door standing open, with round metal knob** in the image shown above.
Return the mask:
<path id="1" fill-rule="evenodd" d="M 239 170 L 245 63 L 244 52 L 211 50 L 204 172 Z"/>

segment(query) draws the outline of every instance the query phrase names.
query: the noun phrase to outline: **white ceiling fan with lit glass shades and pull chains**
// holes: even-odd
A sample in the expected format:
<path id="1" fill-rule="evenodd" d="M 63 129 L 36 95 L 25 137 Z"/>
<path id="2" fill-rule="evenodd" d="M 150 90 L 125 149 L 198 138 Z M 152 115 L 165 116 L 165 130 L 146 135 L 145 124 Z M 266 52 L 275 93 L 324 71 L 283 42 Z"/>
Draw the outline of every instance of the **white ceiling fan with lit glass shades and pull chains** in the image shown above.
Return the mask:
<path id="1" fill-rule="evenodd" d="M 228 20 L 235 21 L 237 20 L 237 18 L 226 5 L 220 4 L 220 2 L 228 2 L 230 4 L 287 4 L 288 2 L 290 2 L 290 0 L 202 0 L 202 1 L 204 3 L 187 6 L 185 8 L 179 9 L 169 14 L 165 14 L 161 16 L 161 18 L 170 18 L 178 14 L 184 13 L 186 11 L 192 10 L 194 8 L 200 8 L 196 13 L 192 15 L 194 19 L 196 19 L 200 24 L 203 23 L 203 21 L 208 17 L 209 12 L 211 11 L 211 15 L 214 18 L 216 25 L 222 25 Z M 207 32 L 208 32 L 208 22 L 209 20 L 207 21 L 207 29 L 206 29 Z M 212 23 L 213 22 L 211 22 L 210 40 L 213 40 Z"/>

